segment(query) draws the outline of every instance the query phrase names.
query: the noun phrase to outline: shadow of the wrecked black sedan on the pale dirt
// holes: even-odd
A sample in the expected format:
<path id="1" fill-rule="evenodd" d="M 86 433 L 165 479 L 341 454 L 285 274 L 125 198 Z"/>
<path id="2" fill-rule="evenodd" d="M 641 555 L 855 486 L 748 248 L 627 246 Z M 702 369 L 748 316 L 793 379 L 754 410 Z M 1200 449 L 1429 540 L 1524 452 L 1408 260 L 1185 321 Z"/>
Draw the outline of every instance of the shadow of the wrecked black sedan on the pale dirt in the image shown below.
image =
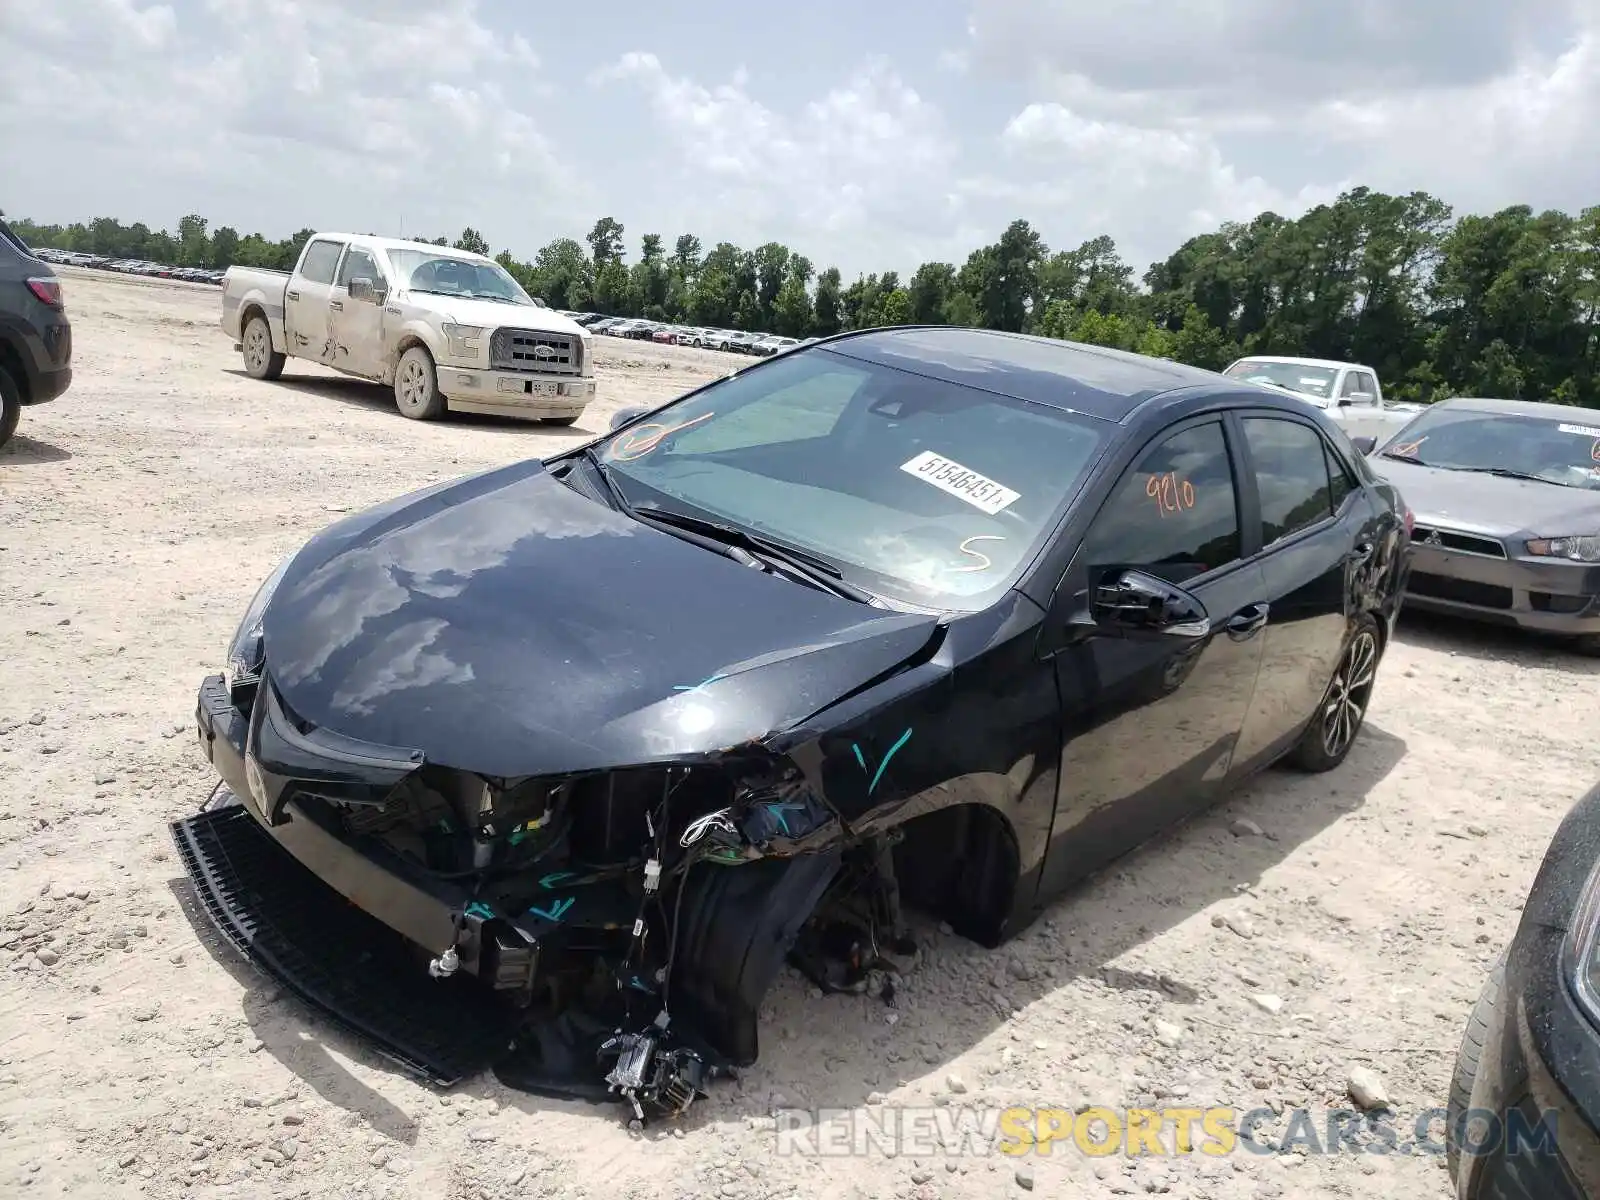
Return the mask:
<path id="1" fill-rule="evenodd" d="M 930 918 L 914 915 L 925 962 L 907 986 L 912 1002 L 899 1008 L 894 1024 L 886 1021 L 891 1010 L 883 1000 L 818 998 L 810 984 L 786 971 L 763 1006 L 757 1066 L 733 1082 L 712 1083 L 710 1101 L 696 1106 L 682 1123 L 694 1128 L 730 1115 L 765 1115 L 779 1093 L 789 1106 L 861 1106 L 872 1091 L 934 1075 L 942 1064 L 1005 1027 L 1013 1013 L 1075 979 L 1096 978 L 1106 987 L 1150 992 L 1174 1005 L 1200 1003 L 1203 981 L 1130 968 L 1118 960 L 1213 904 L 1240 896 L 1298 846 L 1357 811 L 1405 757 L 1405 749 L 1402 739 L 1368 723 L 1344 765 L 1333 773 L 1266 771 L 1216 808 L 1157 835 L 1085 880 L 1014 941 L 995 950 L 947 934 Z M 1242 818 L 1254 822 L 1262 835 L 1235 835 L 1230 826 Z M 360 1114 L 395 1141 L 413 1142 L 416 1122 L 357 1080 L 330 1050 L 370 1070 L 414 1077 L 258 973 L 200 912 L 186 878 L 174 878 L 170 886 L 202 944 L 245 989 L 245 1018 L 262 1051 L 330 1104 Z M 1235 942 L 1243 946 L 1229 930 L 1211 933 L 1224 939 L 1222 954 L 1235 949 Z M 931 981 L 930 973 L 939 978 Z M 928 1000 L 918 1003 L 915 997 L 936 997 L 936 1006 Z M 494 1098 L 530 1115 L 560 1110 L 618 1122 L 629 1115 L 622 1106 L 512 1091 L 491 1072 L 464 1080 L 451 1091 Z"/>

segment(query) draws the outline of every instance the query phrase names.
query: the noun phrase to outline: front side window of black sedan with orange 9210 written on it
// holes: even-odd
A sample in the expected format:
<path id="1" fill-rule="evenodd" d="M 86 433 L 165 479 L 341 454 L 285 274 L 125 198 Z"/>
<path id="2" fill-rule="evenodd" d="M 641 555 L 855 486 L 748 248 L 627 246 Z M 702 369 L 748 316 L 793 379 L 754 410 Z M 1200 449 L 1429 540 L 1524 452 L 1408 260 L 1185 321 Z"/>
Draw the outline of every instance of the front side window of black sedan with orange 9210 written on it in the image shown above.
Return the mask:
<path id="1" fill-rule="evenodd" d="M 1094 517 L 1078 555 L 1096 578 L 1138 566 L 1173 584 L 1238 557 L 1234 469 L 1218 421 L 1146 450 Z"/>

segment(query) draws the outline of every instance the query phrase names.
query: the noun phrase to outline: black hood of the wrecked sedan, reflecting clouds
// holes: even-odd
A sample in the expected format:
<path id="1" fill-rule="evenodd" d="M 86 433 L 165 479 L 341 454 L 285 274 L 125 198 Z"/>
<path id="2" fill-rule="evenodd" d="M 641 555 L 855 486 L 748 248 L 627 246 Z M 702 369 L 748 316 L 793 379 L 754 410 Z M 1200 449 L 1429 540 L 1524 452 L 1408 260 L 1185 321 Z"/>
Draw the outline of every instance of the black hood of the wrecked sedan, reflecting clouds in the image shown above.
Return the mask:
<path id="1" fill-rule="evenodd" d="M 733 747 L 891 670 L 936 630 L 632 522 L 538 461 L 325 530 L 262 624 L 294 715 L 490 776 Z"/>

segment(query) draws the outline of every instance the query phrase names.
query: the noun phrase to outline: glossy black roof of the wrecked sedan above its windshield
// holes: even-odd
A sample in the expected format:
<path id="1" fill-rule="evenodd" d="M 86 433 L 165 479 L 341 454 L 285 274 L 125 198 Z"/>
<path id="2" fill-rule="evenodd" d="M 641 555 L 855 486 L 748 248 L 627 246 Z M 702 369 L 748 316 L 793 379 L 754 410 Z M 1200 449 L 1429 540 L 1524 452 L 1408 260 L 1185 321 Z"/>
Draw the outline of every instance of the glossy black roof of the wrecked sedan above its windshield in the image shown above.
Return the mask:
<path id="1" fill-rule="evenodd" d="M 1214 371 L 1166 358 L 950 325 L 862 330 L 811 349 L 1117 422 L 1165 392 L 1237 387 Z"/>

